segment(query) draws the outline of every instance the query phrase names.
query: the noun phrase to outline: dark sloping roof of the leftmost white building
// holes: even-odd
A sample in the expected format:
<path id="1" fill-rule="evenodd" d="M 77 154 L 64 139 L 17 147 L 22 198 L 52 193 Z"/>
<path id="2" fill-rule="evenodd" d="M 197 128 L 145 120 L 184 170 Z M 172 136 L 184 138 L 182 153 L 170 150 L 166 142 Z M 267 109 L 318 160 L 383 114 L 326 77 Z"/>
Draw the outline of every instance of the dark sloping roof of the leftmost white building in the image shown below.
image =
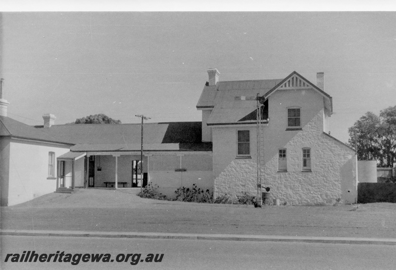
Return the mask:
<path id="1" fill-rule="evenodd" d="M 60 139 L 53 134 L 49 134 L 7 116 L 0 116 L 0 137 L 73 145 L 69 140 Z"/>

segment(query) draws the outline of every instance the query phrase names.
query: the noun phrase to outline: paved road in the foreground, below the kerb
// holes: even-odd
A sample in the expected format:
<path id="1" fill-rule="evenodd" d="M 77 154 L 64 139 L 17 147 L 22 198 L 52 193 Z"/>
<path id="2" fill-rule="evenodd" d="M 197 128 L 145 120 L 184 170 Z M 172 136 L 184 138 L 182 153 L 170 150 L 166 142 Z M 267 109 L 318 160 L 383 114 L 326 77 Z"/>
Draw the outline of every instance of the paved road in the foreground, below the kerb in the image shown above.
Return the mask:
<path id="1" fill-rule="evenodd" d="M 4 263 L 7 253 L 109 253 L 113 262 Z M 59 252 L 59 253 L 60 253 Z M 164 254 L 161 262 L 116 262 L 118 254 Z M 395 269 L 396 246 L 1 236 L 1 269 Z M 120 259 L 121 257 L 119 257 Z M 65 257 L 63 257 L 65 259 Z M 62 259 L 62 260 L 63 260 Z M 10 261 L 11 258 L 8 259 Z"/>

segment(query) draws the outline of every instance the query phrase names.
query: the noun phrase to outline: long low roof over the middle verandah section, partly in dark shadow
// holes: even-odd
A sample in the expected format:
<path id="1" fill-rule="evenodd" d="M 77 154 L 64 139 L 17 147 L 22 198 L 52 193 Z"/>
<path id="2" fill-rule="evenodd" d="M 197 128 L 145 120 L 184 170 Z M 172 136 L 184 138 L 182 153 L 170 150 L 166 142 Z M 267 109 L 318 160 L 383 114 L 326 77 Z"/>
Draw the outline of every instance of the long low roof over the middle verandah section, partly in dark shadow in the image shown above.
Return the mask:
<path id="1" fill-rule="evenodd" d="M 38 127 L 76 144 L 72 151 L 140 151 L 141 124 L 65 124 Z M 212 151 L 201 142 L 201 122 L 144 124 L 145 151 Z"/>

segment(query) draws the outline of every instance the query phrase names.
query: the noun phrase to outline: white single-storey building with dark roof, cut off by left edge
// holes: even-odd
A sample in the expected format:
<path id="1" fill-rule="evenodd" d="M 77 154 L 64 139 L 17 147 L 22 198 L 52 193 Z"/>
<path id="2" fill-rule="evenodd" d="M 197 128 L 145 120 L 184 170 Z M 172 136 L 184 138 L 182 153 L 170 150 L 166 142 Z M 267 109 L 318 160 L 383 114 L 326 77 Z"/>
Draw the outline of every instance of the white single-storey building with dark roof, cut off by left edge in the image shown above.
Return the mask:
<path id="1" fill-rule="evenodd" d="M 0 99 L 0 103 L 4 104 Z M 7 104 L 8 105 L 8 104 Z M 1 206 L 22 203 L 56 189 L 56 157 L 73 143 L 0 115 Z"/>

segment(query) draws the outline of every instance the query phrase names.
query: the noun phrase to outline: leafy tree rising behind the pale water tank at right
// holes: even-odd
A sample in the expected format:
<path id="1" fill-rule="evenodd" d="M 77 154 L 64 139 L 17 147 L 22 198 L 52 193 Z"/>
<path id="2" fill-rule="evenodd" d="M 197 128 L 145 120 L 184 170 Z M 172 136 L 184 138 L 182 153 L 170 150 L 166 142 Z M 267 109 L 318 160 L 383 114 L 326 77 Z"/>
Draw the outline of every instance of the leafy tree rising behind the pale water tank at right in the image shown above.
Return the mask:
<path id="1" fill-rule="evenodd" d="M 380 112 L 367 112 L 349 127 L 348 143 L 355 147 L 359 160 L 379 160 L 380 167 L 393 167 L 396 162 L 396 106 Z"/>

